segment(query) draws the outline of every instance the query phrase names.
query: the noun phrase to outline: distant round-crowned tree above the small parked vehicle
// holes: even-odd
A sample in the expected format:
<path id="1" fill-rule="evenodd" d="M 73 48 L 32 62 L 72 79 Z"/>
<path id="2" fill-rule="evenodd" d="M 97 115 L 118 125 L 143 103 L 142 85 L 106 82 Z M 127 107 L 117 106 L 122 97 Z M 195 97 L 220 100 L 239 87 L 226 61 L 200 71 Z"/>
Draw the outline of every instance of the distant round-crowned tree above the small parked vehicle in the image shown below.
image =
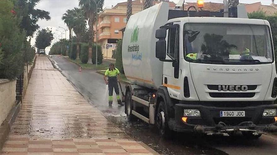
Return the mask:
<path id="1" fill-rule="evenodd" d="M 53 39 L 52 31 L 49 28 L 39 30 L 36 37 L 36 47 L 38 49 L 45 49 L 51 45 Z"/>

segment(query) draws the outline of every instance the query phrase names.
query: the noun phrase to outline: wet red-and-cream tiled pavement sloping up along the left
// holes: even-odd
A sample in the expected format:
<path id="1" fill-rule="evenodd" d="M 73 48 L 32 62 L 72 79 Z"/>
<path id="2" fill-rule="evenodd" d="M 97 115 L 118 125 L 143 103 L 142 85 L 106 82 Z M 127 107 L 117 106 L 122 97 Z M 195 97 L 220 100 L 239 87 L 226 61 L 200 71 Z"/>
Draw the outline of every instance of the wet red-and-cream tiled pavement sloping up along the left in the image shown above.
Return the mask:
<path id="1" fill-rule="evenodd" d="M 2 155 L 157 154 L 128 138 L 40 56 Z"/>

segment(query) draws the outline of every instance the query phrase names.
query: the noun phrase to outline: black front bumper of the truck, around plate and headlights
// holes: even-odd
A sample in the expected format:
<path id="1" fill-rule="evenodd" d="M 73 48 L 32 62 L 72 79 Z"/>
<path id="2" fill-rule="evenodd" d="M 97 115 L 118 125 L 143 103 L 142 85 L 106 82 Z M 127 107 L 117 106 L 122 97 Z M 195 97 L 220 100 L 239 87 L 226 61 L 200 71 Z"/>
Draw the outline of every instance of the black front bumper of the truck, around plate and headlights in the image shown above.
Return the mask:
<path id="1" fill-rule="evenodd" d="M 277 122 L 274 117 L 264 117 L 264 109 L 276 109 L 277 104 L 246 107 L 215 107 L 198 104 L 176 104 L 175 118 L 168 121 L 171 130 L 177 132 L 201 132 L 223 134 L 229 132 L 276 132 Z M 184 109 L 197 109 L 201 117 L 188 117 L 182 121 Z M 245 117 L 220 117 L 220 111 L 245 111 Z"/>

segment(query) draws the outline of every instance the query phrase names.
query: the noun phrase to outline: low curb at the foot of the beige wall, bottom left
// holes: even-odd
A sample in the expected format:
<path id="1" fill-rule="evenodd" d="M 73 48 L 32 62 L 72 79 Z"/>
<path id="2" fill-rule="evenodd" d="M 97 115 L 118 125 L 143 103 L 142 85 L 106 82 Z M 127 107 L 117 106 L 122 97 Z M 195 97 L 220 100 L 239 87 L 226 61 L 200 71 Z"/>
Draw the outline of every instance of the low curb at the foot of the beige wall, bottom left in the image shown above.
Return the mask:
<path id="1" fill-rule="evenodd" d="M 11 111 L 9 112 L 5 121 L 3 121 L 2 125 L 0 126 L 0 150 L 2 149 L 4 142 L 8 138 L 8 134 L 20 111 L 21 105 L 22 105 L 21 102 L 16 103 L 14 107 L 11 109 Z"/>

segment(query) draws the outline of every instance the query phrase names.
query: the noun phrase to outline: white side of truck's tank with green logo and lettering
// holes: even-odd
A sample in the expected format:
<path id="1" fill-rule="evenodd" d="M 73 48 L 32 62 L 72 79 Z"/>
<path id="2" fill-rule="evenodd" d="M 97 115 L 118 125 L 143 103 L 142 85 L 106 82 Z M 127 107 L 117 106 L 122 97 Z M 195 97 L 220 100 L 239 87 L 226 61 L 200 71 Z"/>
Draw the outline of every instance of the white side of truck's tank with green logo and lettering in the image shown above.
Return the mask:
<path id="1" fill-rule="evenodd" d="M 167 22 L 168 4 L 160 3 L 131 16 L 122 43 L 126 77 L 140 85 L 157 88 L 162 81 L 163 63 L 155 58 L 155 31 Z"/>

